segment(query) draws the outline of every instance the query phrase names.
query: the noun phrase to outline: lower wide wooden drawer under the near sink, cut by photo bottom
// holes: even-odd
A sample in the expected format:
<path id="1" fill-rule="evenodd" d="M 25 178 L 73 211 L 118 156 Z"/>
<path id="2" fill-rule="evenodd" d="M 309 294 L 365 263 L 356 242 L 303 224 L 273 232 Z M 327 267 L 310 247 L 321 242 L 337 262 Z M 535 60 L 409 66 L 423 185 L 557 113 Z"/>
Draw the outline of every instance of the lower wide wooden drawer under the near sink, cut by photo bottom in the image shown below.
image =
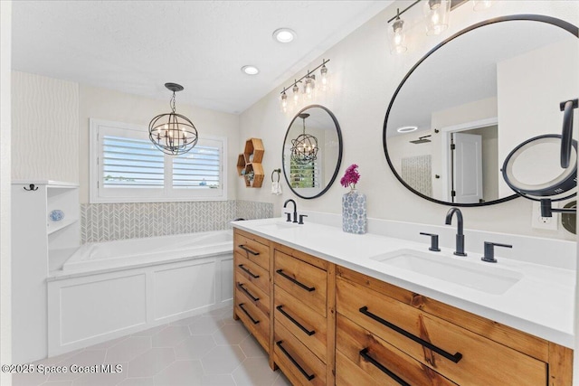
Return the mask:
<path id="1" fill-rule="evenodd" d="M 336 355 L 337 384 L 456 385 L 342 315 L 337 315 Z"/>

